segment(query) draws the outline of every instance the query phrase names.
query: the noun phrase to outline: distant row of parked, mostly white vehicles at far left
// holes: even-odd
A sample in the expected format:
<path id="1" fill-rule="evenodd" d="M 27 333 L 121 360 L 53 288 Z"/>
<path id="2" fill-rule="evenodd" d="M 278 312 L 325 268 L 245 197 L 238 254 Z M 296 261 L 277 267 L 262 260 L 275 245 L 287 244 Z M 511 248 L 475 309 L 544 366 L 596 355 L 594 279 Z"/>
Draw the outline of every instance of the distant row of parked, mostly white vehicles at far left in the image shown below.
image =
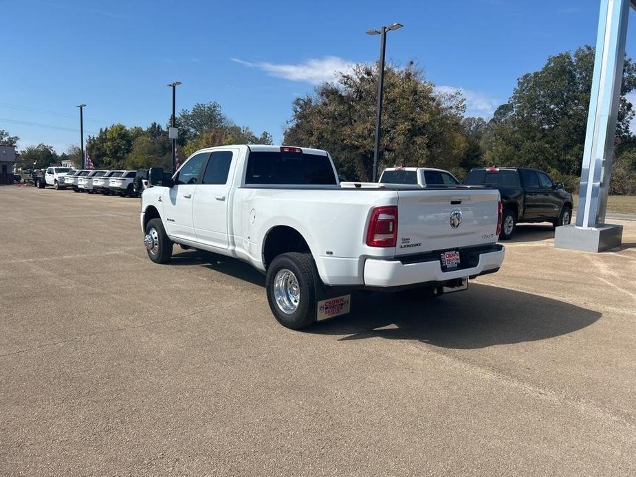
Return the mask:
<path id="1" fill-rule="evenodd" d="M 72 189 L 74 192 L 102 193 L 122 197 L 139 197 L 144 190 L 148 170 L 71 169 L 47 168 L 41 176 L 34 176 L 38 188 L 52 186 L 56 190 Z"/>

